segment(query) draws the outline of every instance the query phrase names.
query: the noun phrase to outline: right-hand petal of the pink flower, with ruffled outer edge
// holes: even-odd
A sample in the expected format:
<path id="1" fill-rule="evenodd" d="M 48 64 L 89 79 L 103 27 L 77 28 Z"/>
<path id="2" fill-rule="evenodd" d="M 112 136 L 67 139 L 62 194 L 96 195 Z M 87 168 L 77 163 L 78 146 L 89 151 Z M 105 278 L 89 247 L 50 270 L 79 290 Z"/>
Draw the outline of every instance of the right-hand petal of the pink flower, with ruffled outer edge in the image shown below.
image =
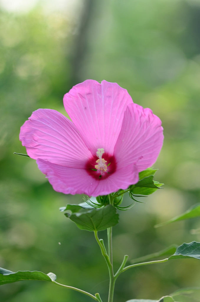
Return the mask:
<path id="1" fill-rule="evenodd" d="M 152 166 L 163 145 L 161 120 L 149 108 L 130 104 L 124 119 L 114 155 L 118 168 L 137 165 L 138 172 Z"/>

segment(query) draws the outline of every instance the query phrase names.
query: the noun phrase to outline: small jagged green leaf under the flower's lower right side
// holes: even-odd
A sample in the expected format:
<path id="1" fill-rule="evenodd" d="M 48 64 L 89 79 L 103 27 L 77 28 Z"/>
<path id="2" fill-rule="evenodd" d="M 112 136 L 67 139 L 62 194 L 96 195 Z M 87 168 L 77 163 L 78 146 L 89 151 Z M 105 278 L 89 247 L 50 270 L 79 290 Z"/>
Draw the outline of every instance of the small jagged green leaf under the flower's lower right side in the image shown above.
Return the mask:
<path id="1" fill-rule="evenodd" d="M 153 175 L 143 178 L 137 184 L 130 186 L 131 194 L 149 195 L 155 192 L 162 185 L 159 182 L 153 180 Z"/>

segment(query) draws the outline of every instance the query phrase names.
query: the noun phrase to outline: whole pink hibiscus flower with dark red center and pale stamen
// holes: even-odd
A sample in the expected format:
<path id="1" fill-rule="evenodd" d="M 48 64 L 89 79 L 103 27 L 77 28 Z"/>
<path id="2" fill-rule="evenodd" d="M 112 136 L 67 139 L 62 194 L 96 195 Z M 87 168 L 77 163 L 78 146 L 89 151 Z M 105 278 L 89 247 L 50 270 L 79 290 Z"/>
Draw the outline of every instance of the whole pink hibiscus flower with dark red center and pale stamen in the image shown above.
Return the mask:
<path id="1" fill-rule="evenodd" d="M 64 194 L 107 195 L 138 182 L 163 144 L 160 119 L 134 104 L 117 83 L 86 80 L 63 98 L 71 120 L 38 109 L 20 140 L 53 189 Z"/>

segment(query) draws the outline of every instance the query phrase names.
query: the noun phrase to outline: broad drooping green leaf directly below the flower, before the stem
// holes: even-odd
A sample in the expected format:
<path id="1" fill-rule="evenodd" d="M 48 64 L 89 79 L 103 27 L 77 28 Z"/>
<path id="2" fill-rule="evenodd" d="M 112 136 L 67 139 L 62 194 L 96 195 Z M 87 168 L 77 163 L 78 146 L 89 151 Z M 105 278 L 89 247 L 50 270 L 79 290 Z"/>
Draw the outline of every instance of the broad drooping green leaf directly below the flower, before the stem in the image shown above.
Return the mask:
<path id="1" fill-rule="evenodd" d="M 71 206 L 71 207 L 70 207 Z M 107 205 L 103 208 L 85 209 L 80 206 L 67 205 L 65 216 L 72 220 L 81 230 L 103 231 L 108 227 L 115 226 L 118 223 L 119 215 L 116 208 Z"/>

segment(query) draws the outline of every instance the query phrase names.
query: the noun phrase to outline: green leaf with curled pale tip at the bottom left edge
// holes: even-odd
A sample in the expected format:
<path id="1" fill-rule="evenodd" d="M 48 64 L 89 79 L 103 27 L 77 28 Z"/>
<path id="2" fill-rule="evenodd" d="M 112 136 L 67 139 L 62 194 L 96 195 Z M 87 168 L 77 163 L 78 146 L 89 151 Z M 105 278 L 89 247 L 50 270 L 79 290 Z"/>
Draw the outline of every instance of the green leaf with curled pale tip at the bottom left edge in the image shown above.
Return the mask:
<path id="1" fill-rule="evenodd" d="M 7 269 L 0 268 L 0 285 L 12 283 L 23 280 L 42 280 L 42 281 L 55 281 L 56 275 L 48 273 L 47 275 L 41 271 L 8 271 Z"/>

